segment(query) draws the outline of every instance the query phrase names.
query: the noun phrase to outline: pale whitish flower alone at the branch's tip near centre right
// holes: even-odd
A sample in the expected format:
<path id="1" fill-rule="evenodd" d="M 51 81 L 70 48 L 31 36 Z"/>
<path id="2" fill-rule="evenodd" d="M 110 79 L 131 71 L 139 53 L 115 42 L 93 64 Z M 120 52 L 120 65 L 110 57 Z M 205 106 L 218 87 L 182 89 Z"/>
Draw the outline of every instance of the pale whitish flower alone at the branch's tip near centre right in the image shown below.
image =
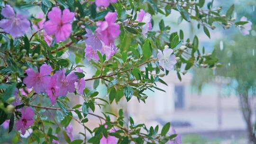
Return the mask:
<path id="1" fill-rule="evenodd" d="M 174 64 L 177 63 L 175 55 L 172 54 L 173 49 L 165 47 L 164 51 L 158 50 L 157 58 L 159 59 L 159 65 L 164 69 L 171 71 L 174 68 Z"/>

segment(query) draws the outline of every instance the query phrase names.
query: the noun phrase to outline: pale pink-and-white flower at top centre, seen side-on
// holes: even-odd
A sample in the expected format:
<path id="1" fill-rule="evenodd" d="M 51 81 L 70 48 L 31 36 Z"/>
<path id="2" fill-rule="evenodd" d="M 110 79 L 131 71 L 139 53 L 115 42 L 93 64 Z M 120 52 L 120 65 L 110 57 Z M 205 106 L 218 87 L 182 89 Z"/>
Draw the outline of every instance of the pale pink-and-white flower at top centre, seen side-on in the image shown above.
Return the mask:
<path id="1" fill-rule="evenodd" d="M 147 32 L 152 29 L 152 16 L 149 13 L 146 13 L 143 9 L 140 9 L 140 12 L 137 14 L 138 22 L 146 23 L 142 26 L 142 35 L 147 36 Z"/>

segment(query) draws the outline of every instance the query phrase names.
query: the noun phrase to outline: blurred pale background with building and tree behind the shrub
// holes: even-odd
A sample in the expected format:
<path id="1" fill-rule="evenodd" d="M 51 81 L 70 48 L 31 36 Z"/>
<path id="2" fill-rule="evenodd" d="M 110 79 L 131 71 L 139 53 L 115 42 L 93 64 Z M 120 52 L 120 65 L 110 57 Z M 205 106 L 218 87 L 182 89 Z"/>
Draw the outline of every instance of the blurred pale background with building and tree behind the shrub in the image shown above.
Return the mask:
<path id="1" fill-rule="evenodd" d="M 197 29 L 193 21 L 178 24 L 180 15 L 174 10 L 164 19 L 165 25 L 171 27 L 171 33 L 182 28 L 185 39 L 197 35 L 199 47 L 204 46 L 207 53 L 215 54 L 223 65 L 221 68 L 194 68 L 182 76 L 182 81 L 179 81 L 175 72 L 170 72 L 162 78 L 168 87 L 161 83 L 157 85 L 166 92 L 147 91 L 146 104 L 138 102 L 136 98 L 128 103 L 121 99 L 118 105 L 113 103 L 104 107 L 103 111 L 118 113 L 119 108 L 123 108 L 127 117 L 131 116 L 135 123 L 145 123 L 146 126 L 162 127 L 171 122 L 182 136 L 183 144 L 250 144 L 249 141 L 256 144 L 256 0 L 214 0 L 214 7 L 221 5 L 226 11 L 233 3 L 233 17 L 240 19 L 245 16 L 253 23 L 249 36 L 242 36 L 235 27 L 222 30 L 222 27 L 217 26 L 210 31 L 209 39 L 202 30 Z M 154 16 L 155 24 L 162 18 L 160 14 Z M 157 29 L 155 25 L 154 30 Z M 65 56 L 75 62 L 72 51 Z M 87 60 L 83 61 L 83 65 L 86 77 L 90 78 L 95 72 L 94 68 Z M 87 82 L 86 86 L 93 88 L 93 81 Z M 104 85 L 100 85 L 97 90 L 101 98 L 108 99 Z M 81 97 L 69 97 L 71 106 L 83 102 Z M 101 115 L 100 108 L 96 108 L 96 113 Z M 97 117 L 89 116 L 86 125 L 93 128 L 100 123 Z M 72 125 L 74 137 L 81 136 L 79 132 L 83 131 L 83 127 L 73 121 Z M 15 132 L 8 134 L 1 126 L 0 135 L 0 144 L 9 144 L 14 141 Z"/>

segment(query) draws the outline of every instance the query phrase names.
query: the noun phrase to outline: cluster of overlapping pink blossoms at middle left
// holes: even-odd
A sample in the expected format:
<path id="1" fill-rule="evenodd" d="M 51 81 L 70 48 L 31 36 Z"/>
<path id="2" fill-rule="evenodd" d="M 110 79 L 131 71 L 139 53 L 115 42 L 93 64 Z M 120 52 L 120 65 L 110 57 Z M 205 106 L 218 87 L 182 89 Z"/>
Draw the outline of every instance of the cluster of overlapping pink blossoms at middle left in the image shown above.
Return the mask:
<path id="1" fill-rule="evenodd" d="M 52 71 L 52 67 L 47 64 L 43 64 L 39 72 L 29 68 L 26 70 L 27 77 L 23 79 L 23 83 L 26 84 L 27 88 L 33 88 L 37 93 L 46 93 L 52 104 L 56 103 L 58 97 L 66 96 L 68 92 L 74 92 L 75 85 L 79 93 L 83 94 L 85 81 L 78 79 L 75 72 L 65 75 L 65 69 L 62 69 L 50 76 Z M 82 70 L 78 68 L 77 72 L 82 72 Z"/>

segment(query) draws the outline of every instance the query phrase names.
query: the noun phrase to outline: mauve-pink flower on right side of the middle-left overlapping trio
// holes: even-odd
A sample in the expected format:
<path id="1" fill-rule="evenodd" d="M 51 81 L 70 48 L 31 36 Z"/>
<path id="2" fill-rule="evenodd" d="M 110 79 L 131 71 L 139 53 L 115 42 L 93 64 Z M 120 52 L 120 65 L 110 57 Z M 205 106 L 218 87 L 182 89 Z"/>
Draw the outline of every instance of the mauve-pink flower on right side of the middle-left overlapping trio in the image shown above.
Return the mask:
<path id="1" fill-rule="evenodd" d="M 57 86 L 60 88 L 59 95 L 66 96 L 68 92 L 75 91 L 75 81 L 77 81 L 77 75 L 74 72 L 70 72 L 65 76 L 65 69 L 57 71 Z"/>

